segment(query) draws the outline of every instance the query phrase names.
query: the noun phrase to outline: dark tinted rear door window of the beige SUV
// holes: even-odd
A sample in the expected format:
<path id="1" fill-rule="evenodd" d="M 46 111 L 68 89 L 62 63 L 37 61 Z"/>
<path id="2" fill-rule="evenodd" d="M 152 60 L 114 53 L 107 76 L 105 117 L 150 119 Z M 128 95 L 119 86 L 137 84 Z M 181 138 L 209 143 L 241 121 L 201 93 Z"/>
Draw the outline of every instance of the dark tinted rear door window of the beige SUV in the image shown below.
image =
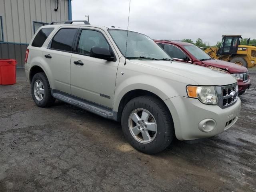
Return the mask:
<path id="1" fill-rule="evenodd" d="M 71 51 L 76 28 L 60 29 L 52 39 L 51 49 Z"/>

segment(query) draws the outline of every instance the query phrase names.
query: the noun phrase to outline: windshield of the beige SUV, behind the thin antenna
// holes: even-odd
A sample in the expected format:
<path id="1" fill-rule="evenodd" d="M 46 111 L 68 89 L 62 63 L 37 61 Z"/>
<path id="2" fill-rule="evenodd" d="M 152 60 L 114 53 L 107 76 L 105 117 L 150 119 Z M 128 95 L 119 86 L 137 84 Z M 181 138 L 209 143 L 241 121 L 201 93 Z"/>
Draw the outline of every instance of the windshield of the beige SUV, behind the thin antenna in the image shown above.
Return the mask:
<path id="1" fill-rule="evenodd" d="M 109 29 L 108 31 L 122 55 L 126 55 L 127 59 L 172 60 L 160 46 L 146 35 L 128 31 L 127 36 L 126 30 Z"/>

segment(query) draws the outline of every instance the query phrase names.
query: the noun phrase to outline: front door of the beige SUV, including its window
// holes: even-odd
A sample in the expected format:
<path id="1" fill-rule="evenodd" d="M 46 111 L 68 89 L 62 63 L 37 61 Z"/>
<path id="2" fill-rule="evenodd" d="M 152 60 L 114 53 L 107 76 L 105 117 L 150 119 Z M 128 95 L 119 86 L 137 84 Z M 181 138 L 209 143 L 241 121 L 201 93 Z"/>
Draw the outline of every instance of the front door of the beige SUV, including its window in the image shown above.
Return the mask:
<path id="1" fill-rule="evenodd" d="M 117 56 L 108 42 L 103 30 L 81 28 L 76 52 L 71 56 L 70 85 L 72 95 L 112 108 L 119 58 L 107 61 L 90 56 L 92 47 L 107 48 Z"/>

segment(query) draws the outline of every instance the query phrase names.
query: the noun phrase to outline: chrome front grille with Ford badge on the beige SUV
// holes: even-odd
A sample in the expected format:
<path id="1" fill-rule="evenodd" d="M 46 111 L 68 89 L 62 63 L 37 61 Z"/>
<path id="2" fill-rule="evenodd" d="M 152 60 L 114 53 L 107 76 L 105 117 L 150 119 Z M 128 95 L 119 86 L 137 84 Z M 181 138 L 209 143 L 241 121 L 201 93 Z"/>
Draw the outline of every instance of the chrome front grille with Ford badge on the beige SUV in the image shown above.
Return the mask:
<path id="1" fill-rule="evenodd" d="M 221 108 L 231 106 L 238 99 L 237 83 L 232 85 L 226 85 L 222 87 L 216 87 L 218 94 L 218 105 Z M 219 90 L 219 91 L 218 91 Z"/>

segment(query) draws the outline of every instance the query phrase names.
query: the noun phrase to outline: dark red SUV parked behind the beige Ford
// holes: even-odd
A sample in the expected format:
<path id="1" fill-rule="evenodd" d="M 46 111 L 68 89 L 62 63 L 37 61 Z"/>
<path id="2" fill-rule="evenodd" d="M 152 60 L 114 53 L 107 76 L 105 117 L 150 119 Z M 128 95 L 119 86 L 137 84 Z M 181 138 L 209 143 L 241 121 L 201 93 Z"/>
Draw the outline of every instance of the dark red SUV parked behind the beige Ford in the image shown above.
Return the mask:
<path id="1" fill-rule="evenodd" d="M 203 50 L 191 43 L 173 40 L 154 40 L 170 57 L 176 61 L 192 63 L 222 72 L 230 73 L 238 82 L 238 94 L 250 88 L 251 80 L 244 66 L 211 58 Z"/>

